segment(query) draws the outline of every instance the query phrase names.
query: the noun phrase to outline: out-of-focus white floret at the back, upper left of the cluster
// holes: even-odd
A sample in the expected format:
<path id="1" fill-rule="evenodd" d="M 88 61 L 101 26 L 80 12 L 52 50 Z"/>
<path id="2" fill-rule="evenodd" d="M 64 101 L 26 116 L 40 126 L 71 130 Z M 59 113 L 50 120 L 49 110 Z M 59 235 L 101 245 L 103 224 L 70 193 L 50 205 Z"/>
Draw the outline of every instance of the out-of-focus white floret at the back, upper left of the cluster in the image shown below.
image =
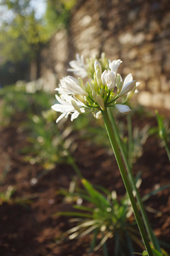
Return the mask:
<path id="1" fill-rule="evenodd" d="M 84 55 L 76 55 L 77 60 L 72 60 L 69 65 L 72 68 L 68 68 L 67 71 L 73 72 L 75 75 L 79 75 L 81 78 L 87 77 L 86 66 L 84 65 Z"/>

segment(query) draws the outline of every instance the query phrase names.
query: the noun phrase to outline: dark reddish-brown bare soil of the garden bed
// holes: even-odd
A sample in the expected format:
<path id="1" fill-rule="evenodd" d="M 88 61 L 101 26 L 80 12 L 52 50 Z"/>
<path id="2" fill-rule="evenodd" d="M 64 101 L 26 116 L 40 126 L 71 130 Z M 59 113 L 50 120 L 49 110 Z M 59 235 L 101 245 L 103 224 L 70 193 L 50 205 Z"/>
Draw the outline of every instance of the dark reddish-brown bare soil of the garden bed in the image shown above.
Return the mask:
<path id="1" fill-rule="evenodd" d="M 157 126 L 155 118 L 135 117 L 133 123 L 144 127 L 149 122 Z M 69 189 L 69 183 L 75 176 L 72 166 L 58 164 L 55 169 L 44 173 L 42 166 L 23 161 L 20 149 L 26 146 L 26 132 L 19 132 L 19 121 L 0 129 L 0 177 L 1 191 L 9 185 L 16 186 L 13 198 L 33 195 L 28 206 L 19 203 L 2 203 L 0 206 L 0 255 L 1 256 L 86 256 L 88 255 L 90 236 L 56 243 L 55 238 L 72 228 L 69 217 L 53 216 L 59 211 L 72 210 L 71 203 L 65 203 L 57 191 Z M 103 146 L 89 144 L 81 139 L 74 152 L 74 159 L 81 174 L 93 184 L 100 184 L 109 191 L 115 190 L 118 196 L 125 194 L 122 178 L 113 154 Z M 166 151 L 160 147 L 156 136 L 147 139 L 144 154 L 134 165 L 134 172 L 142 171 L 140 194 L 143 196 L 157 186 L 170 183 L 170 165 Z M 38 182 L 33 185 L 33 178 Z M 31 183 L 32 181 L 32 183 Z M 147 213 L 155 235 L 159 240 L 170 244 L 170 188 L 152 196 L 145 205 L 160 213 Z M 169 249 L 165 248 L 167 252 Z M 138 252 L 141 250 L 138 250 Z M 102 249 L 91 256 L 103 255 Z M 108 240 L 108 255 L 113 255 L 113 240 Z"/>

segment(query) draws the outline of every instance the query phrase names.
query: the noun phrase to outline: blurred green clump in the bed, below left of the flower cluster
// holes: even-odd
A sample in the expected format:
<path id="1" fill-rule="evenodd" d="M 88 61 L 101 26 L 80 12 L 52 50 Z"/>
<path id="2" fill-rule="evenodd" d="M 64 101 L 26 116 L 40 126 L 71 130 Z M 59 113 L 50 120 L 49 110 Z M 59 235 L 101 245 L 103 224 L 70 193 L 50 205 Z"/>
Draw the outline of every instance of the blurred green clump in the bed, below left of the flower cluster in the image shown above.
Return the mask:
<path id="1" fill-rule="evenodd" d="M 54 169 L 57 163 L 71 164 L 70 153 L 77 148 L 74 138 L 69 136 L 72 129 L 58 129 L 55 119 L 56 114 L 48 110 L 39 116 L 30 115 L 24 124 L 29 129 L 27 141 L 30 142 L 30 146 L 22 150 L 22 153 L 27 154 L 24 159 L 30 164 L 42 164 L 46 170 Z"/>

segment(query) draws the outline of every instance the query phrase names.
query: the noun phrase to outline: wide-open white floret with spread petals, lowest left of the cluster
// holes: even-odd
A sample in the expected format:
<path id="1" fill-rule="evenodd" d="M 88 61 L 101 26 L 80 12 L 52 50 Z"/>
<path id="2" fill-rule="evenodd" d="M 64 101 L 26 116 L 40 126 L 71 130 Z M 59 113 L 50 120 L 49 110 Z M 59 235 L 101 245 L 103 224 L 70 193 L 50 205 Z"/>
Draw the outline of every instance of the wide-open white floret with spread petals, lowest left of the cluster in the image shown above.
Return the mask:
<path id="1" fill-rule="evenodd" d="M 72 102 L 76 102 L 77 106 L 79 107 L 79 110 L 81 112 L 85 112 L 84 110 L 84 104 L 82 102 L 79 102 L 77 100 L 74 100 L 73 97 L 65 94 L 61 95 L 61 98 L 58 97 L 57 95 L 55 95 L 57 101 L 60 104 L 55 104 L 52 106 L 52 110 L 55 110 L 57 112 L 62 112 L 62 114 L 60 115 L 60 117 L 57 118 L 56 122 L 59 122 L 60 119 L 62 119 L 62 117 L 68 117 L 69 114 L 72 114 L 71 120 L 73 121 L 75 118 L 77 118 L 79 116 L 79 112 L 77 110 L 75 110 L 75 108 L 72 105 Z"/>

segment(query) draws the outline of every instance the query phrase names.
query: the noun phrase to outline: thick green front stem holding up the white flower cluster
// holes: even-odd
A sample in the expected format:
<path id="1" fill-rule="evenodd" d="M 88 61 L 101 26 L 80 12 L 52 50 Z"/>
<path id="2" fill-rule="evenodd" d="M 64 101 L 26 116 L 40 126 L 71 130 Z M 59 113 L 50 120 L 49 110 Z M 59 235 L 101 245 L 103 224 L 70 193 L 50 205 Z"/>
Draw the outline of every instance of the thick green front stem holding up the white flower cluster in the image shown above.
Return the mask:
<path id="1" fill-rule="evenodd" d="M 105 122 L 106 131 L 108 132 L 108 137 L 110 139 L 111 146 L 113 148 L 113 152 L 115 154 L 115 159 L 116 159 L 116 161 L 118 163 L 118 167 L 120 169 L 120 174 L 123 178 L 123 182 L 125 184 L 126 191 L 127 191 L 128 196 L 130 198 L 130 202 L 131 202 L 131 205 L 132 205 L 133 212 L 135 214 L 135 218 L 136 218 L 136 221 L 137 221 L 138 228 L 140 230 L 140 234 L 142 236 L 142 240 L 144 242 L 144 245 L 146 247 L 148 255 L 153 256 L 151 247 L 149 245 L 149 240 L 147 239 L 147 233 L 145 232 L 144 225 L 143 225 L 142 220 L 140 218 L 140 213 L 137 209 L 137 204 L 136 204 L 136 201 L 135 201 L 135 197 L 133 196 L 132 188 L 130 186 L 128 176 L 127 176 L 126 171 L 125 171 L 125 166 L 123 164 L 123 160 L 121 158 L 120 151 L 118 149 L 118 144 L 115 141 L 115 136 L 114 136 L 113 129 L 112 129 L 112 126 L 111 126 L 111 122 L 108 118 L 107 109 L 101 111 L 101 113 L 103 115 L 103 120 Z"/>

